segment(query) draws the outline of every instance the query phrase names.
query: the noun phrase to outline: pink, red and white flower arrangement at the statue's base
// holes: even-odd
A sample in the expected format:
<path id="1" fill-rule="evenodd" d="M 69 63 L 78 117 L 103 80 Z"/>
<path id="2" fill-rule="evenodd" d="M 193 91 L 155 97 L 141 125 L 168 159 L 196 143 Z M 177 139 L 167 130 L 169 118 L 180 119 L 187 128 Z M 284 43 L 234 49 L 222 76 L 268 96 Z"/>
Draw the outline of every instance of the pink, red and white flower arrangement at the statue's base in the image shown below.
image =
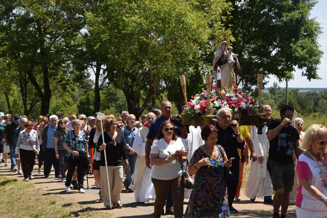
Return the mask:
<path id="1" fill-rule="evenodd" d="M 215 93 L 216 86 L 210 92 L 210 102 L 212 103 L 212 113 L 215 114 L 220 108 L 228 108 L 231 113 L 242 111 L 242 113 L 253 115 L 258 114 L 258 103 L 249 95 L 237 88 L 222 90 Z M 202 93 L 191 96 L 191 101 L 187 102 L 183 109 L 184 116 L 201 116 L 205 114 L 208 106 L 208 92 L 202 89 Z"/>

